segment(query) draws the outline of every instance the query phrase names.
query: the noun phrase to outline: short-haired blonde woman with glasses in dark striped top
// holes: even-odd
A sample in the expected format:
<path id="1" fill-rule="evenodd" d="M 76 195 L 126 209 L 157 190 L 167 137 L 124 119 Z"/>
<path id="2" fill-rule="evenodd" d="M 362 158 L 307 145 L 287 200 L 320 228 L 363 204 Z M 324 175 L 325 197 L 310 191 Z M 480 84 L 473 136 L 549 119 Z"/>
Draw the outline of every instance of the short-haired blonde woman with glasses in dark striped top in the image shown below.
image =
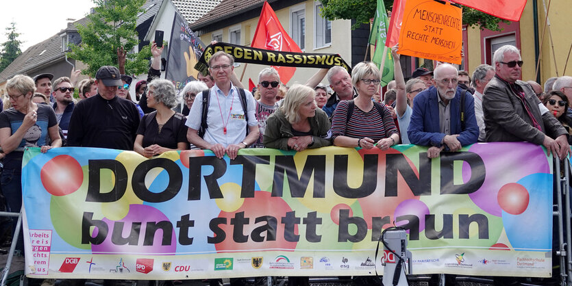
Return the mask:
<path id="1" fill-rule="evenodd" d="M 373 62 L 360 62 L 351 72 L 358 96 L 340 101 L 332 115 L 334 145 L 382 150 L 399 142 L 399 133 L 390 110 L 371 100 L 380 86 L 380 70 Z"/>

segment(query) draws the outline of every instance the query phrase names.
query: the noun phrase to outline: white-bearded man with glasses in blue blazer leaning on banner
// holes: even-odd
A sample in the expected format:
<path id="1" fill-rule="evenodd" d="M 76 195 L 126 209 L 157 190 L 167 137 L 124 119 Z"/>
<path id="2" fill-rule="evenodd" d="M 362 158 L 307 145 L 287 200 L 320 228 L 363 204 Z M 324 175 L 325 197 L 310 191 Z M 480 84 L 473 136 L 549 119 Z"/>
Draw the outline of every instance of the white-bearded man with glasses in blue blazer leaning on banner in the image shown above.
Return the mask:
<path id="1" fill-rule="evenodd" d="M 458 87 L 457 68 L 441 64 L 433 75 L 433 86 L 413 101 L 408 129 L 412 144 L 430 146 L 429 158 L 438 157 L 441 151 L 460 151 L 479 137 L 473 96 Z"/>

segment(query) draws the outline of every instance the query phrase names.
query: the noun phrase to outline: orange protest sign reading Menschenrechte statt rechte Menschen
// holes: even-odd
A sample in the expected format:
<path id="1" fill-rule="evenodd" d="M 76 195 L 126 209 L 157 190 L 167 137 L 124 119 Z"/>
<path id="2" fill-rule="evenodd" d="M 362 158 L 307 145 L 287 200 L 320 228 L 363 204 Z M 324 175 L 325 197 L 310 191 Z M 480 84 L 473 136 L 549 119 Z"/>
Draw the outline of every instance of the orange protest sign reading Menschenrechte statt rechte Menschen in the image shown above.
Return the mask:
<path id="1" fill-rule="evenodd" d="M 397 52 L 460 64 L 461 15 L 461 8 L 447 1 L 407 0 Z"/>

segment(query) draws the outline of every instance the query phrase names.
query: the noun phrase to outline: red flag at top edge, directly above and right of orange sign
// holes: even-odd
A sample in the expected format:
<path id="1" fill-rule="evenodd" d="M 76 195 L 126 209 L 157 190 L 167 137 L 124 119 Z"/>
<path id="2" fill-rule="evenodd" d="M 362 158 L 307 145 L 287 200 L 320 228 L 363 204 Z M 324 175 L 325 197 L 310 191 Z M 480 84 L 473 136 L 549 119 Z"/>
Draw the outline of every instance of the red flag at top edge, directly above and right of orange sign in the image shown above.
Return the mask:
<path id="1" fill-rule="evenodd" d="M 526 0 L 451 0 L 508 21 L 520 21 Z"/>

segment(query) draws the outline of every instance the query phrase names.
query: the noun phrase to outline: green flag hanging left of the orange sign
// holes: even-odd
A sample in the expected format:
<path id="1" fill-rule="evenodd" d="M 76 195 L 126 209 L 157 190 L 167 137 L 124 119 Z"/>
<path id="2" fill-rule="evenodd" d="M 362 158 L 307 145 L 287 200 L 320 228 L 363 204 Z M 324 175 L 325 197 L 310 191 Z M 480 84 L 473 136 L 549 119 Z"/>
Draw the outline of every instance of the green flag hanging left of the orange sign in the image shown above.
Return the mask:
<path id="1" fill-rule="evenodd" d="M 384 53 L 385 41 L 387 37 L 387 29 L 389 21 L 383 0 L 377 0 L 377 10 L 375 10 L 375 17 L 373 18 L 373 26 L 369 33 L 369 44 L 375 45 L 373 52 L 372 62 L 377 64 L 377 67 L 382 69 L 382 58 Z M 382 86 L 393 80 L 393 58 L 391 57 L 391 49 L 386 49 L 387 55 L 382 70 Z"/>

